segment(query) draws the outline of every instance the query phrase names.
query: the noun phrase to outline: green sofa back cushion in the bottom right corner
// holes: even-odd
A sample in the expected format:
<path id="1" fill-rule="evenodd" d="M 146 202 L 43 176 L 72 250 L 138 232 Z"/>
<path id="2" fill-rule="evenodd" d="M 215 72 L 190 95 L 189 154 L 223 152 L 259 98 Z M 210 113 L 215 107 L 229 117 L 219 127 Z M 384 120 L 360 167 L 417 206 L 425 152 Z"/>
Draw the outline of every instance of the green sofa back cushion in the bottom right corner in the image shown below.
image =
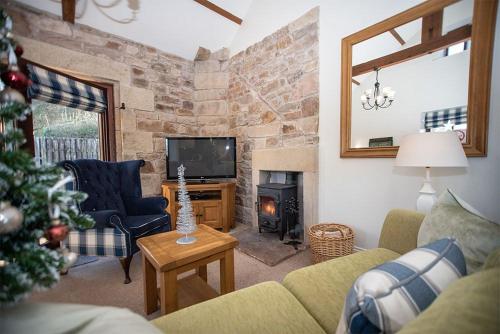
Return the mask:
<path id="1" fill-rule="evenodd" d="M 498 333 L 499 277 L 496 267 L 453 282 L 399 333 Z"/>

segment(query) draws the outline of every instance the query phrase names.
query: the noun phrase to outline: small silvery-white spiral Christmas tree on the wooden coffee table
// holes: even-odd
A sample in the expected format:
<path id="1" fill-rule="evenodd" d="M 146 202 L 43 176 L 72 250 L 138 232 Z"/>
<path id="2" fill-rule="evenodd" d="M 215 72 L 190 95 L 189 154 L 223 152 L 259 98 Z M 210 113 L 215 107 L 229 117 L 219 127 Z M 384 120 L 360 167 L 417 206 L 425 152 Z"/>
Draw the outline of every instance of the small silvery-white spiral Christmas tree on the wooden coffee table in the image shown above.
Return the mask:
<path id="1" fill-rule="evenodd" d="M 184 178 L 184 165 L 177 168 L 177 178 L 179 182 L 178 196 L 179 205 L 181 206 L 177 213 L 177 232 L 184 236 L 177 240 L 178 244 L 191 244 L 196 241 L 195 237 L 189 237 L 188 234 L 196 231 L 196 222 L 193 217 L 193 207 L 191 199 L 186 189 L 186 179 Z"/>

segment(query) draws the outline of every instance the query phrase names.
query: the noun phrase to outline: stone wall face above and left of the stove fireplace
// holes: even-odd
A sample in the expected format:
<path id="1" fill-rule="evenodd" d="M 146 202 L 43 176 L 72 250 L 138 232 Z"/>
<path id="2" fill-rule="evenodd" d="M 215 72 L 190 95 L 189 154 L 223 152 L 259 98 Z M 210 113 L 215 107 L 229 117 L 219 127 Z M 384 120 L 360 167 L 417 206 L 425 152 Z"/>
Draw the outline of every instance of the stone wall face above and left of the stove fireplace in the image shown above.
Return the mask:
<path id="1" fill-rule="evenodd" d="M 236 217 L 251 223 L 252 150 L 317 145 L 319 9 L 229 62 L 229 132 L 238 140 Z"/>

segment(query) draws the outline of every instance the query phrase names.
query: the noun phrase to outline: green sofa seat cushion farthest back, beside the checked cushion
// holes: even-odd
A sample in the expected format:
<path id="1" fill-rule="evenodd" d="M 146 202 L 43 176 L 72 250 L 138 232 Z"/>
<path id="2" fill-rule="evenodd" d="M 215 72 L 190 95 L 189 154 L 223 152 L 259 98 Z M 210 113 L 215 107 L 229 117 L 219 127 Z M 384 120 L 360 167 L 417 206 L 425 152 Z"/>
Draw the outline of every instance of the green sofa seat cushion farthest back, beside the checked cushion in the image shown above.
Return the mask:
<path id="1" fill-rule="evenodd" d="M 289 273 L 283 285 L 327 333 L 335 333 L 347 292 L 356 278 L 400 254 L 370 249 Z"/>

